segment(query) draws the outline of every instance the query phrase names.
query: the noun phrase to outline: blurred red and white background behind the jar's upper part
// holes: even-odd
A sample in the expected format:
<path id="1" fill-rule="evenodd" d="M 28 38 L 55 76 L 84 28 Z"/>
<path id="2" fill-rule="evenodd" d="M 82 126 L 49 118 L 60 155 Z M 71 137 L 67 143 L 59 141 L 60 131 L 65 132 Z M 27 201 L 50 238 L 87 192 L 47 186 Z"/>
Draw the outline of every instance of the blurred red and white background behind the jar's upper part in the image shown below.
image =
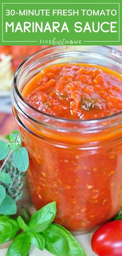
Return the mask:
<path id="1" fill-rule="evenodd" d="M 12 116 L 10 86 L 20 63 L 47 46 L 0 46 L 0 137 L 18 129 Z M 113 46 L 122 51 L 122 46 Z"/>

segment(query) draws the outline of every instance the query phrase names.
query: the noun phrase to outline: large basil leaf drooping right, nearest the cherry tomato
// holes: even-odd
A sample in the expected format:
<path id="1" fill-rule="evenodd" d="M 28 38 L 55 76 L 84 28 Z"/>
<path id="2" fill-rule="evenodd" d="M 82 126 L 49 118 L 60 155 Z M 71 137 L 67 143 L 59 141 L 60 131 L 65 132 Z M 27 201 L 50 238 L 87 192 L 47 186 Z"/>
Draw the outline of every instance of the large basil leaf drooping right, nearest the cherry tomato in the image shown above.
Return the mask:
<path id="1" fill-rule="evenodd" d="M 85 251 L 64 227 L 51 224 L 43 232 L 45 237 L 45 249 L 56 256 L 86 256 Z"/>

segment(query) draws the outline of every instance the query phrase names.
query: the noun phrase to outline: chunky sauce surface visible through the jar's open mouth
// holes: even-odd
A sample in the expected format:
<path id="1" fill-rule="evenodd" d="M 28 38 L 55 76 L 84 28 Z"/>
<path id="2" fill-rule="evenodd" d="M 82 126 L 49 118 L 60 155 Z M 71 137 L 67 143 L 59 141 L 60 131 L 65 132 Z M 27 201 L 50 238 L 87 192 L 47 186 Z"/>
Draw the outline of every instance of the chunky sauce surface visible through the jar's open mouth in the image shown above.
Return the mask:
<path id="1" fill-rule="evenodd" d="M 122 78 L 105 67 L 52 65 L 28 83 L 24 96 L 50 115 L 97 119 L 122 110 Z"/>

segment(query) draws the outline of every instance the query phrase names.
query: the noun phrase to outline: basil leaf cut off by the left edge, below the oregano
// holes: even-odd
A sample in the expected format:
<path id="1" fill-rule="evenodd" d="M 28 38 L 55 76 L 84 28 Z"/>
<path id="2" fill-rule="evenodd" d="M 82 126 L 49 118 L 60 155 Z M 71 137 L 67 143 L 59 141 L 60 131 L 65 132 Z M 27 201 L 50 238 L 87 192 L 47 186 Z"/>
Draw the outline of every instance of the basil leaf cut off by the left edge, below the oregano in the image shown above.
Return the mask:
<path id="1" fill-rule="evenodd" d="M 19 231 L 18 222 L 9 216 L 0 216 L 0 244 L 12 239 Z"/>

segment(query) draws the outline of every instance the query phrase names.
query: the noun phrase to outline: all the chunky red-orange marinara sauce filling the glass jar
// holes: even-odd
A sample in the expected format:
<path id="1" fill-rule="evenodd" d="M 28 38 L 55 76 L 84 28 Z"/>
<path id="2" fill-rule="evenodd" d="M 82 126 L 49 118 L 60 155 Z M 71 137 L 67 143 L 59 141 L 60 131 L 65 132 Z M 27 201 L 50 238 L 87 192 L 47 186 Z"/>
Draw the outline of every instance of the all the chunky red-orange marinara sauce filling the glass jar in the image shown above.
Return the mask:
<path id="1" fill-rule="evenodd" d="M 120 74 L 90 64 L 46 67 L 26 84 L 22 94 L 36 109 L 66 119 L 98 119 L 122 110 Z M 57 133 L 50 133 L 48 139 L 56 141 L 54 145 L 21 132 L 29 153 L 30 195 L 37 209 L 56 201 L 55 221 L 75 231 L 95 228 L 117 214 L 122 145 L 103 143 L 111 134 L 104 138 L 89 134 L 89 141 L 103 144 L 81 150 L 81 137 L 67 134 L 67 138 L 58 138 Z M 59 147 L 58 139 L 62 142 Z M 68 146 L 65 140 L 70 142 Z"/>

